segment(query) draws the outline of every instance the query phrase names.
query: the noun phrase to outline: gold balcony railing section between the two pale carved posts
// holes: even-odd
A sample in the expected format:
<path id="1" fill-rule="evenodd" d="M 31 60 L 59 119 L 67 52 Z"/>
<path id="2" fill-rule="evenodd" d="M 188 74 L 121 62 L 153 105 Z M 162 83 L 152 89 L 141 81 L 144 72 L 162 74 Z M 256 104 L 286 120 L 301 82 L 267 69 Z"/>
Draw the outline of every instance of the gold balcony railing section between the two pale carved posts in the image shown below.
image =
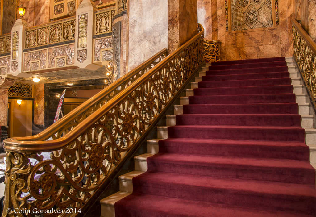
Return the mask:
<path id="1" fill-rule="evenodd" d="M 25 48 L 75 39 L 75 16 L 27 28 Z"/>

